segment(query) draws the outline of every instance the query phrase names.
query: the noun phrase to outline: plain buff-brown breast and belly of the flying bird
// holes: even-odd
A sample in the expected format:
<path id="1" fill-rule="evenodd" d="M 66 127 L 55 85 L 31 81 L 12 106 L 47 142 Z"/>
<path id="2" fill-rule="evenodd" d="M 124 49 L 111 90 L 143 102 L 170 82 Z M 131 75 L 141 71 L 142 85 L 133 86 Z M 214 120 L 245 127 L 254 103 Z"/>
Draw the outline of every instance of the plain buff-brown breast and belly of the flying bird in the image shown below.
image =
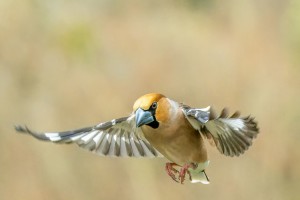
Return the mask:
<path id="1" fill-rule="evenodd" d="M 170 123 L 160 123 L 157 129 L 143 126 L 142 131 L 151 145 L 172 162 L 183 165 L 207 160 L 202 137 L 182 112 Z"/>

